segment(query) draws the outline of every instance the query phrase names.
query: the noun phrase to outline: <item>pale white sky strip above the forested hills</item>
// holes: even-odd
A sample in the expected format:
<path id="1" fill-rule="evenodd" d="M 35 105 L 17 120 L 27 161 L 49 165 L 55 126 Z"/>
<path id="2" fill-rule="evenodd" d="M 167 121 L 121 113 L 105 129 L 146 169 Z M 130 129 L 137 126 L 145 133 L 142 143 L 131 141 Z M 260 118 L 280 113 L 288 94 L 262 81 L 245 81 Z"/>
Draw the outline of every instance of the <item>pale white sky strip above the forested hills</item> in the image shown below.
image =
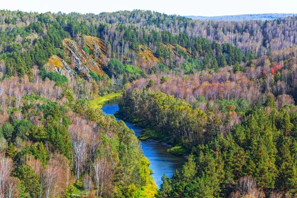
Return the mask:
<path id="1" fill-rule="evenodd" d="M 152 10 L 181 16 L 296 13 L 297 0 L 0 0 L 0 9 L 95 13 Z"/>

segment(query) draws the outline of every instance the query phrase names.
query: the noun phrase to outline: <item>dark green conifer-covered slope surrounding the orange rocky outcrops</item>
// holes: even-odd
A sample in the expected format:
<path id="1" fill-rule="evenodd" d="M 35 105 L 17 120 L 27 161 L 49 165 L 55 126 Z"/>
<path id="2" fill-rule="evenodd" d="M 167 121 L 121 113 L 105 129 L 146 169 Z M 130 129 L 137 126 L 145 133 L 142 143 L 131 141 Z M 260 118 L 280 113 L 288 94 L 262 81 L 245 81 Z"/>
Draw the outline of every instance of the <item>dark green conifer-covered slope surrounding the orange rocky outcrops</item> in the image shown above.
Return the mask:
<path id="1" fill-rule="evenodd" d="M 105 23 L 102 20 L 111 16 L 104 13 L 91 20 L 92 15 L 76 13 L 1 12 L 0 58 L 4 62 L 0 71 L 6 77 L 30 74 L 30 68 L 37 65 L 47 72 L 70 77 L 80 75 L 87 80 L 92 78 L 91 72 L 100 76 L 109 73 L 111 78 L 113 73 L 106 71 L 110 58 L 120 60 L 125 66 L 129 65 L 127 67 L 138 67 L 145 73 L 168 70 L 193 73 L 197 69 L 217 69 L 253 57 L 251 53 L 245 56 L 229 44 L 221 45 L 202 37 L 191 38 L 183 32 L 176 34 L 150 26 L 127 26 L 112 20 Z M 155 13 L 148 14 L 155 17 Z M 162 17 L 168 18 L 169 23 L 175 18 Z M 149 23 L 155 26 L 159 22 Z M 127 75 L 130 80 L 136 77 L 133 72 Z"/>

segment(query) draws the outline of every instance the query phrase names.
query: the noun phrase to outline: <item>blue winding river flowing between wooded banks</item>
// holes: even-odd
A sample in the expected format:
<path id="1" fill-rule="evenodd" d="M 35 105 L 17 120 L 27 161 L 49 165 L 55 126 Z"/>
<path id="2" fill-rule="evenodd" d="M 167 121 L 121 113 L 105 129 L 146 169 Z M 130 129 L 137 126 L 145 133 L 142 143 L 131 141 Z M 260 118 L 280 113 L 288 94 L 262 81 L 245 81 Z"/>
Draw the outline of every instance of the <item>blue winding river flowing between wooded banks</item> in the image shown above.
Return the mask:
<path id="1" fill-rule="evenodd" d="M 119 102 L 117 100 L 111 100 L 102 107 L 102 111 L 107 115 L 113 115 L 119 110 Z M 116 118 L 116 120 L 119 120 Z M 135 135 L 138 137 L 141 135 L 143 128 L 134 126 L 131 122 L 124 121 L 130 129 L 135 131 Z M 167 147 L 159 142 L 141 141 L 144 155 L 148 158 L 152 170 L 152 178 L 156 182 L 158 188 L 162 184 L 162 176 L 166 174 L 167 177 L 172 177 L 175 170 L 181 170 L 186 159 L 184 157 L 175 156 L 167 152 Z"/>

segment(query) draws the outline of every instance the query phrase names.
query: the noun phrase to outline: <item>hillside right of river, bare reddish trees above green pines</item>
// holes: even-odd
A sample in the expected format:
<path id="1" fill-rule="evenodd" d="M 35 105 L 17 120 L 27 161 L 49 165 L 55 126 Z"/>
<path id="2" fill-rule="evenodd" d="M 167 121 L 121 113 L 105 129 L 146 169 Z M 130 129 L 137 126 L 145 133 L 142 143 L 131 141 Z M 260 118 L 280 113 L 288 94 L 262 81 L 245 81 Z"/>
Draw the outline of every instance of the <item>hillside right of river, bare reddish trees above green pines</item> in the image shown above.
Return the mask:
<path id="1" fill-rule="evenodd" d="M 146 127 L 143 138 L 191 153 L 158 197 L 296 196 L 296 52 L 131 83 L 118 115 Z"/>

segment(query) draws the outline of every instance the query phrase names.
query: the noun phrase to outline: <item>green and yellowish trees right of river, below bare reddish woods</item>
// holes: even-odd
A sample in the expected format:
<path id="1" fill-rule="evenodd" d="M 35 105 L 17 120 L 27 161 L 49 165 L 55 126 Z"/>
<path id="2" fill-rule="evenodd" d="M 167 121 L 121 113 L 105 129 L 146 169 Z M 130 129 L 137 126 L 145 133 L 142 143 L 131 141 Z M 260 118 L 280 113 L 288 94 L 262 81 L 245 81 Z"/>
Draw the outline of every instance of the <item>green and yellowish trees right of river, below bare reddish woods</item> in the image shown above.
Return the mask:
<path id="1" fill-rule="evenodd" d="M 169 143 L 191 149 L 183 170 L 163 177 L 158 197 L 296 195 L 295 105 L 278 110 L 268 96 L 261 107 L 247 104 L 242 121 L 235 123 L 236 101 L 230 101 L 222 105 L 230 118 L 224 123 L 210 105 L 202 111 L 160 92 L 137 89 L 126 97 L 124 111 L 144 118 Z M 229 130 L 224 132 L 222 125 Z"/>

